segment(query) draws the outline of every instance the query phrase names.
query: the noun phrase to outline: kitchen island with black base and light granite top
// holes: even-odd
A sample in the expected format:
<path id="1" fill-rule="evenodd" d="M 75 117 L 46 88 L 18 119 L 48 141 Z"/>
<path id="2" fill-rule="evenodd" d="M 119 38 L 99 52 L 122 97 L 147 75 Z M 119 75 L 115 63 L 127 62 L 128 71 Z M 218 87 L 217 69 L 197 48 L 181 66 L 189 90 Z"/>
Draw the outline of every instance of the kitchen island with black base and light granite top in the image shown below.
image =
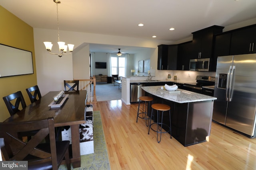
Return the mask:
<path id="1" fill-rule="evenodd" d="M 154 98 L 154 103 L 171 107 L 172 136 L 185 147 L 207 141 L 211 130 L 213 104 L 217 98 L 182 89 L 178 89 L 178 93 L 170 93 L 160 87 L 142 86 L 142 90 L 146 96 Z M 155 120 L 156 112 L 153 114 Z M 163 123 L 169 124 L 168 116 L 164 117 Z"/>

